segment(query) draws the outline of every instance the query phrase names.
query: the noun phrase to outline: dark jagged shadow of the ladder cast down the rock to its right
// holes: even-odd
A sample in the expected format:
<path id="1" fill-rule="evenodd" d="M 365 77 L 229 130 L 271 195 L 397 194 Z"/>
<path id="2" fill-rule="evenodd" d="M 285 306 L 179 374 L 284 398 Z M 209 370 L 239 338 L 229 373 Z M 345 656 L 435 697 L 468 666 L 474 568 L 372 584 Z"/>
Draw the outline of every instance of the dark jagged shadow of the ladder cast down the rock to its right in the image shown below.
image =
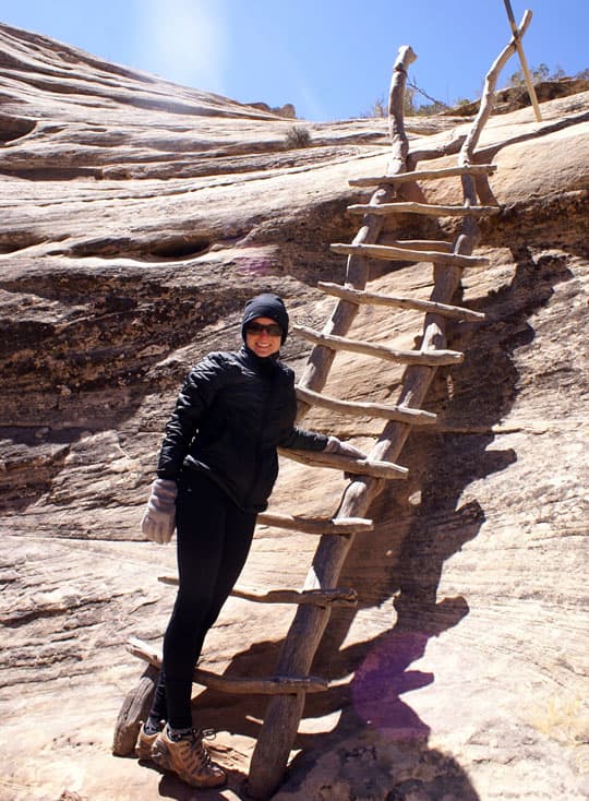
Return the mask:
<path id="1" fill-rule="evenodd" d="M 529 316 L 549 302 L 554 284 L 570 275 L 562 260 L 536 263 L 525 249 L 514 259 L 510 284 L 479 304 L 489 322 L 479 328 L 450 326 L 448 347 L 468 356 L 452 376 L 440 371 L 432 385 L 428 408 L 438 413 L 442 426 L 433 434 L 409 438 L 404 464 L 411 478 L 376 499 L 369 513 L 378 522 L 370 548 L 358 536 L 340 576 L 340 586 L 358 590 L 361 608 L 394 598 L 396 621 L 385 633 L 341 648 L 356 611 L 334 610 L 312 671 L 344 680 L 353 673 L 353 680 L 308 696 L 305 718 L 337 709 L 341 715 L 329 733 L 299 736 L 302 752 L 276 799 L 478 798 L 456 761 L 429 748 L 428 722 L 401 695 L 434 681 L 432 673 L 411 670 L 411 663 L 430 637 L 468 614 L 465 598 L 438 602 L 436 597 L 445 562 L 477 537 L 485 518 L 477 501 L 460 505 L 460 498 L 474 480 L 517 458 L 512 449 L 490 449 L 493 426 L 516 397 L 514 351 L 533 339 Z M 382 631 L 381 619 L 376 627 Z"/>

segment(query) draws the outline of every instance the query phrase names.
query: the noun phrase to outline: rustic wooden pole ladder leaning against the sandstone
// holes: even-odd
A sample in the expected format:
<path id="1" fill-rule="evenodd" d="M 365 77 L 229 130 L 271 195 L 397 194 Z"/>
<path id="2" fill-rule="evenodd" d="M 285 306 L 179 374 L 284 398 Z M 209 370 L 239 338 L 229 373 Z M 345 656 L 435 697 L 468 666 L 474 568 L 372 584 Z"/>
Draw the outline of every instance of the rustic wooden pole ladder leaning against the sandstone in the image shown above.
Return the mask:
<path id="1" fill-rule="evenodd" d="M 358 534 L 372 530 L 373 522 L 366 518 L 371 503 L 386 487 L 389 479 L 407 477 L 407 468 L 396 464 L 413 426 L 435 423 L 435 415 L 421 409 L 436 368 L 459 363 L 461 352 L 446 349 L 446 320 L 482 321 L 484 314 L 454 306 L 450 301 L 458 289 L 465 267 L 483 268 L 486 259 L 472 255 L 479 240 L 478 220 L 481 216 L 496 214 L 500 207 L 479 202 L 479 196 L 491 193 L 486 179 L 496 167 L 477 164 L 474 150 L 491 113 L 493 93 L 498 74 L 515 52 L 519 38 L 531 20 L 526 12 L 517 34 L 504 48 L 486 75 L 481 107 L 468 135 L 453 151 L 458 153 L 455 167 L 417 170 L 422 158 L 435 158 L 440 152 L 410 153 L 405 133 L 402 105 L 407 69 L 416 59 L 410 47 L 400 48 L 393 69 L 389 92 L 389 131 L 392 158 L 384 176 L 350 180 L 360 188 L 374 188 L 365 204 L 349 206 L 351 214 L 362 215 L 362 224 L 351 244 L 336 243 L 332 249 L 348 256 L 344 285 L 320 283 L 318 288 L 338 299 L 332 318 L 322 332 L 305 326 L 293 326 L 299 335 L 314 344 L 305 370 L 297 386 L 299 399 L 298 419 L 312 406 L 336 413 L 380 417 L 386 422 L 376 443 L 365 459 L 350 459 L 335 454 L 280 450 L 285 457 L 294 458 L 316 467 L 342 469 L 353 476 L 346 487 L 338 511 L 330 519 L 304 518 L 286 514 L 264 513 L 259 523 L 320 536 L 313 565 L 301 590 L 276 589 L 256 593 L 235 588 L 232 595 L 256 602 L 296 603 L 297 612 L 284 641 L 275 676 L 266 679 L 247 679 L 217 676 L 200 668 L 194 671 L 199 684 L 232 693 L 261 693 L 271 696 L 264 721 L 252 756 L 248 791 L 253 798 L 268 798 L 284 776 L 290 751 L 302 717 L 306 693 L 328 690 L 329 681 L 310 674 L 315 653 L 334 606 L 357 602 L 353 589 L 338 587 L 344 562 Z M 446 151 L 446 154 L 448 151 Z M 459 177 L 462 184 L 461 205 L 432 205 L 425 200 L 418 181 Z M 461 228 L 453 242 L 438 240 L 388 241 L 383 235 L 384 220 L 394 214 L 425 214 L 437 217 L 462 218 Z M 429 300 L 371 292 L 366 289 L 371 260 L 402 262 L 431 262 L 434 287 Z M 421 345 L 418 350 L 398 350 L 392 347 L 359 342 L 347 337 L 353 319 L 362 304 L 413 309 L 424 313 Z M 322 393 L 338 350 L 360 352 L 378 359 L 407 364 L 398 403 L 359 403 L 329 397 Z M 163 576 L 161 581 L 176 584 L 176 577 Z M 147 682 L 131 693 L 119 715 L 115 737 L 115 753 L 130 753 L 134 744 L 137 721 L 148 708 L 149 692 L 160 655 L 149 645 L 133 638 L 128 649 L 152 666 Z"/>

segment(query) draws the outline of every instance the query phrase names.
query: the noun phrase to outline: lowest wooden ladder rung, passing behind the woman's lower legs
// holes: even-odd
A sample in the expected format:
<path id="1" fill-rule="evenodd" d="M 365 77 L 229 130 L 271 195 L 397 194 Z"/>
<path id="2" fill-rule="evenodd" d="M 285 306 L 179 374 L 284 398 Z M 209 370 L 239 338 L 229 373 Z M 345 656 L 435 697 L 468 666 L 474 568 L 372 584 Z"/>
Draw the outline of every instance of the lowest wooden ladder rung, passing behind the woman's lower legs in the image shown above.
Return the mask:
<path id="1" fill-rule="evenodd" d="M 161 656 L 147 643 L 131 637 L 127 650 L 155 668 L 161 669 Z M 292 693 L 321 693 L 329 689 L 329 682 L 317 676 L 293 677 L 273 676 L 267 679 L 245 679 L 233 676 L 219 676 L 211 670 L 195 668 L 192 680 L 196 684 L 236 694 L 290 695 Z"/>

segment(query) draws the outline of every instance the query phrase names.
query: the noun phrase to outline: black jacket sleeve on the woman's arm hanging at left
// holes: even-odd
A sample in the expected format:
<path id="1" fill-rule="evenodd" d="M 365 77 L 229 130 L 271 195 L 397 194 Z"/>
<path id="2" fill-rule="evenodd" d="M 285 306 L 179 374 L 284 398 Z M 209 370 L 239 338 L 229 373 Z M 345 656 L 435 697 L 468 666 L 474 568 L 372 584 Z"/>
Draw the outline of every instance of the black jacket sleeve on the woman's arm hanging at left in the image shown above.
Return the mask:
<path id="1" fill-rule="evenodd" d="M 220 355 L 209 354 L 188 374 L 166 425 L 157 463 L 158 478 L 177 479 L 203 414 L 213 403 L 227 370 Z"/>

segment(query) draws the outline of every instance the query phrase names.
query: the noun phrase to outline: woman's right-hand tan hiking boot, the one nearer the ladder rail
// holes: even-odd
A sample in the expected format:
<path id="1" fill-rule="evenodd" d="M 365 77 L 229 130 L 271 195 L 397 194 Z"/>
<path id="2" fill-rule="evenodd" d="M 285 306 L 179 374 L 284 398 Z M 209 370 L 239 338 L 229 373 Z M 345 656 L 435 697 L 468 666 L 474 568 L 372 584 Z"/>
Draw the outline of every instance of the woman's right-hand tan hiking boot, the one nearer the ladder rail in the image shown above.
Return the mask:
<path id="1" fill-rule="evenodd" d="M 227 774 L 211 760 L 203 743 L 203 732 L 193 729 L 181 740 L 171 740 L 168 727 L 156 737 L 152 760 L 164 770 L 171 770 L 191 787 L 220 787 Z"/>

